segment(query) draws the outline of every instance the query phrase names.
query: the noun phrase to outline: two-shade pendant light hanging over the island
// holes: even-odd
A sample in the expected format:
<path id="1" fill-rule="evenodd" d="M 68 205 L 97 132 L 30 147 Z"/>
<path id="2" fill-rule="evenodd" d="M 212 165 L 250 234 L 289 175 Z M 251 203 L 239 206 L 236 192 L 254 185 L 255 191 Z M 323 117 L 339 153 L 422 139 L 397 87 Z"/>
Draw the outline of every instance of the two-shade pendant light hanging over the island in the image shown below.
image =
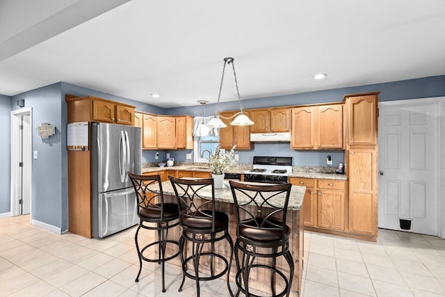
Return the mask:
<path id="1" fill-rule="evenodd" d="M 239 90 L 238 90 L 238 81 L 236 80 L 234 58 L 227 57 L 227 58 L 224 58 L 223 74 L 221 76 L 220 91 L 218 93 L 218 102 L 216 102 L 215 116 L 213 119 L 211 119 L 207 123 L 207 126 L 213 127 L 213 128 L 227 127 L 227 125 L 225 125 L 225 123 L 220 119 L 220 115 L 218 114 L 218 105 L 219 105 L 220 99 L 221 99 L 221 90 L 223 90 L 225 65 L 227 65 L 227 64 L 232 64 L 232 70 L 234 72 L 234 78 L 235 78 L 236 95 L 238 95 L 239 112 L 232 115 L 232 117 L 225 118 L 225 119 L 234 118 L 236 116 L 236 118 L 230 123 L 230 125 L 236 125 L 236 126 L 253 125 L 252 120 L 250 120 L 250 118 L 248 118 L 248 116 L 243 113 L 243 106 L 241 105 L 241 97 L 239 95 Z"/>

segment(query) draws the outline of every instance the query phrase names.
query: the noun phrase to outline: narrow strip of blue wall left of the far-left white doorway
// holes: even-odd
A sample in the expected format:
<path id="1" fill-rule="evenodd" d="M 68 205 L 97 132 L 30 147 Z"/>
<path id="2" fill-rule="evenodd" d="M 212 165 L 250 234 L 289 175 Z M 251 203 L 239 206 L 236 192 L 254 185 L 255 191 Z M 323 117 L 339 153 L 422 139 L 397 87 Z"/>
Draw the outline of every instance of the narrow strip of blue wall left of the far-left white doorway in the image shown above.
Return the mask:
<path id="1" fill-rule="evenodd" d="M 10 211 L 10 184 L 11 184 L 11 158 L 10 158 L 10 133 L 11 133 L 11 98 L 0 95 L 0 214 Z"/>

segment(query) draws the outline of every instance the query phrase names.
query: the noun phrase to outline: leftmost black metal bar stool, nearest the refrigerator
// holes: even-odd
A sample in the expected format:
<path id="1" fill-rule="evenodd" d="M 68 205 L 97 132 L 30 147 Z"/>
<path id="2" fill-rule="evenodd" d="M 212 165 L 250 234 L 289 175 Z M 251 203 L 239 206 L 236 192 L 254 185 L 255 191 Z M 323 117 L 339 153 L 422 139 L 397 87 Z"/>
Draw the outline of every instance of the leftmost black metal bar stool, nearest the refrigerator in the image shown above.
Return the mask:
<path id="1" fill-rule="evenodd" d="M 162 265 L 162 291 L 165 292 L 165 271 L 164 264 L 179 255 L 179 241 L 168 239 L 168 230 L 179 225 L 179 209 L 176 203 L 165 203 L 162 192 L 160 175 L 135 175 L 127 172 L 133 184 L 136 193 L 136 202 L 138 205 L 138 216 L 140 218 L 138 229 L 134 236 L 136 250 L 139 257 L 139 272 L 135 282 L 139 281 L 140 271 L 142 270 L 142 260 L 147 262 L 157 262 Z M 176 220 L 176 222 L 175 222 Z M 147 225 L 154 223 L 155 225 Z M 156 230 L 158 240 L 148 243 L 141 249 L 138 244 L 138 234 L 140 228 L 147 230 Z M 176 245 L 178 251 L 169 257 L 165 257 L 165 249 L 168 243 Z M 158 255 L 155 258 L 144 256 L 145 250 L 152 246 L 157 246 Z M 148 251 L 147 251 L 148 252 Z"/>

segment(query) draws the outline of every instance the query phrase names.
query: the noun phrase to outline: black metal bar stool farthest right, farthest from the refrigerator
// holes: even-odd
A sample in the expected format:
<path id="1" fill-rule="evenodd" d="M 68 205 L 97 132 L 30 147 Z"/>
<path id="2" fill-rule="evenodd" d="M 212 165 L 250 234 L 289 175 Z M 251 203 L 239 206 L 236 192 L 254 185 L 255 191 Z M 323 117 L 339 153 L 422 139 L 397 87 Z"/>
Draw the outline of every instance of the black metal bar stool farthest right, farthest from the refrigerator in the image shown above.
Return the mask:
<path id="1" fill-rule="evenodd" d="M 240 291 L 245 296 L 257 296 L 250 292 L 249 287 L 252 268 L 270 271 L 270 291 L 273 296 L 289 296 L 294 264 L 289 250 L 291 229 L 286 225 L 286 215 L 292 185 L 253 185 L 234 181 L 229 181 L 229 184 L 234 198 L 237 225 L 236 296 Z M 242 256 L 241 262 L 239 254 Z M 277 257 L 280 256 L 289 264 L 289 278 L 275 266 Z M 266 259 L 259 262 L 257 258 Z M 284 282 L 284 289 L 279 293 L 275 288 L 277 275 Z"/>

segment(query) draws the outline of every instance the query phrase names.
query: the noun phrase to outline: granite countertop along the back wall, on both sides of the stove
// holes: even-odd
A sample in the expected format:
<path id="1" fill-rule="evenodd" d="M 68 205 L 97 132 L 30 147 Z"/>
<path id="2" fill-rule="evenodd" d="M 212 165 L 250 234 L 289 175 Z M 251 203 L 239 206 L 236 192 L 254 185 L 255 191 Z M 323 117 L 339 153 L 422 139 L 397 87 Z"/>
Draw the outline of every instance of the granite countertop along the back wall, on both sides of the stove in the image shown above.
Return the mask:
<path id="1" fill-rule="evenodd" d="M 202 166 L 171 166 L 171 167 L 145 167 L 142 168 L 142 172 L 156 172 L 161 170 L 191 170 L 191 171 L 201 171 L 201 172 L 210 172 L 207 164 Z M 244 173 L 245 170 L 249 170 L 249 168 L 233 168 L 227 170 L 229 173 Z M 326 171 L 326 170 L 324 170 Z M 314 179 L 337 179 L 337 180 L 347 180 L 346 175 L 337 175 L 335 173 L 327 173 L 320 172 L 320 170 L 316 171 L 312 167 L 294 167 L 289 177 L 301 177 L 301 178 L 314 178 Z"/>

